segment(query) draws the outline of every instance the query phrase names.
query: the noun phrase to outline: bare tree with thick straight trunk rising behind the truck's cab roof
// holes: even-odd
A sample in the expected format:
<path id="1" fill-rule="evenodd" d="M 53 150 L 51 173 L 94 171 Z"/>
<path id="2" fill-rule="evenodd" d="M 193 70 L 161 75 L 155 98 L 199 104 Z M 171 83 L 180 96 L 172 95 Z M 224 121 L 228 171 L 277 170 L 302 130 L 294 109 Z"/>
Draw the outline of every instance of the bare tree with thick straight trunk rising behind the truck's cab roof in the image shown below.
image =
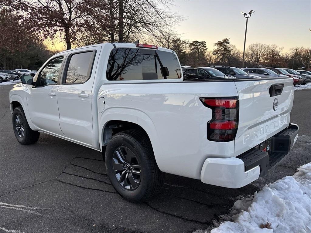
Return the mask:
<path id="1" fill-rule="evenodd" d="M 161 39 L 170 34 L 182 18 L 169 11 L 174 0 L 85 0 L 86 28 L 79 43 L 91 35 L 97 43 L 132 42 L 135 39 Z M 169 32 L 169 33 L 168 33 Z"/>

